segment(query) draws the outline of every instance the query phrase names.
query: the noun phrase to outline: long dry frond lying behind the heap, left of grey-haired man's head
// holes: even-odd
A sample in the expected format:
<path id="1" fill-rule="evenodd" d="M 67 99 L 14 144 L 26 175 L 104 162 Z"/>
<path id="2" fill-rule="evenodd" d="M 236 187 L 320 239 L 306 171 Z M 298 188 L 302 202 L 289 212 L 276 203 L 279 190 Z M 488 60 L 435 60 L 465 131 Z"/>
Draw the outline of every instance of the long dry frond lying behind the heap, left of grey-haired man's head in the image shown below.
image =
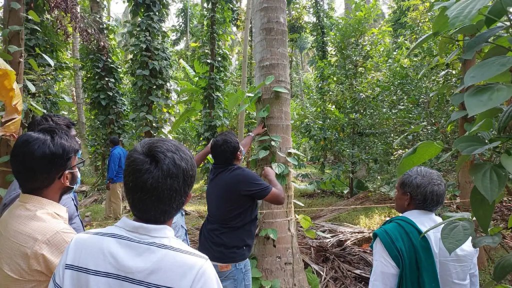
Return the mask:
<path id="1" fill-rule="evenodd" d="M 311 215 L 313 221 L 328 221 L 339 214 L 347 213 L 369 205 L 390 205 L 394 204 L 393 198 L 389 195 L 375 192 L 361 192 L 352 198 L 342 200 L 331 205 L 331 208 L 319 210 Z"/>

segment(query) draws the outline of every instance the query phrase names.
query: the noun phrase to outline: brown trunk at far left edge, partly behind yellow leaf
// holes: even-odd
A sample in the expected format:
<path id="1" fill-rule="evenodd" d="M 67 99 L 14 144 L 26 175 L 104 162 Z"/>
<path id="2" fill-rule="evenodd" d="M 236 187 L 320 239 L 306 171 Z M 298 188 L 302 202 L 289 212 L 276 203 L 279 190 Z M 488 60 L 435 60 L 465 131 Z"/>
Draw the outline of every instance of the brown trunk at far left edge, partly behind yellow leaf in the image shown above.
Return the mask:
<path id="1" fill-rule="evenodd" d="M 17 3 L 20 6 L 18 9 L 12 7 L 12 3 Z M 15 5 L 16 6 L 16 5 Z M 9 26 L 24 27 L 23 14 L 25 13 L 25 1 L 24 0 L 5 0 L 4 1 L 4 29 Z M 12 60 L 8 63 L 11 68 L 16 72 L 16 82 L 19 85 L 19 92 L 23 96 L 23 68 L 24 68 L 24 55 L 25 50 L 25 34 L 23 30 L 10 31 L 7 37 L 4 36 L 4 47 L 15 46 L 19 48 L 18 51 L 6 52 L 12 56 Z M 21 131 L 21 129 L 20 129 Z M 21 132 L 20 132 L 21 133 Z M 13 142 L 7 138 L 0 138 L 0 156 L 6 156 L 11 154 Z M 11 172 L 10 162 L 0 163 L 0 188 L 7 189 L 11 182 L 6 181 L 5 177 Z"/>

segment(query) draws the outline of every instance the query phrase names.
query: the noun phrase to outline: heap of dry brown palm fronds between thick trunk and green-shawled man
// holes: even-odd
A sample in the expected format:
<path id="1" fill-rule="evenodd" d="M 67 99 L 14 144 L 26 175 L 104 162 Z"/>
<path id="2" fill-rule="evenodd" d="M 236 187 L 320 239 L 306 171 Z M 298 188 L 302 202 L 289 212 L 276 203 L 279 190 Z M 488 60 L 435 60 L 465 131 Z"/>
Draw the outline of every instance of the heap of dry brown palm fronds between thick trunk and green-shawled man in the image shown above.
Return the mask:
<path id="1" fill-rule="evenodd" d="M 320 286 L 326 288 L 368 287 L 372 252 L 367 246 L 372 230 L 349 224 L 315 222 L 322 237 L 311 239 L 299 233 L 304 261 L 317 271 Z"/>

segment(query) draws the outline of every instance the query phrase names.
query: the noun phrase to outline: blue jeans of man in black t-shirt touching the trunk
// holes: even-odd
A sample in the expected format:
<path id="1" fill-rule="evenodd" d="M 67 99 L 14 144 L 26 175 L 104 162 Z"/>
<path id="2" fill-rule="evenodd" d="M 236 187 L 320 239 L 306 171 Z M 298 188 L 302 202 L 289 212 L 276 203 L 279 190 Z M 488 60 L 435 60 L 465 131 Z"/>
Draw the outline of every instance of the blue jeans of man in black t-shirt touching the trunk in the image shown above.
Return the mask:
<path id="1" fill-rule="evenodd" d="M 223 288 L 251 288 L 251 263 L 249 259 L 240 263 L 219 265 L 214 263 L 215 271 L 221 279 Z"/>

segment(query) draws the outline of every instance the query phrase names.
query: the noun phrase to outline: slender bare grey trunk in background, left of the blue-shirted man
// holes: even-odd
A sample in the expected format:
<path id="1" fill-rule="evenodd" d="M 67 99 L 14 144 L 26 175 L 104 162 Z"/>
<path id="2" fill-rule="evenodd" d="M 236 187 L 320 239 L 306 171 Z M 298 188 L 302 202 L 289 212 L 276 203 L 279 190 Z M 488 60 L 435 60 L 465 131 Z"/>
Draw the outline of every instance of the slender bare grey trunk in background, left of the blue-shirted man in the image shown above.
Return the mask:
<path id="1" fill-rule="evenodd" d="M 73 58 L 77 61 L 80 60 L 80 38 L 76 32 L 76 27 L 73 25 L 73 45 L 72 54 Z M 73 64 L 75 70 L 75 98 L 76 98 L 76 113 L 78 114 L 78 136 L 82 140 L 82 157 L 89 158 L 89 151 L 87 149 L 87 134 L 86 134 L 86 115 L 83 113 L 83 93 L 82 93 L 82 71 L 80 64 Z"/>

